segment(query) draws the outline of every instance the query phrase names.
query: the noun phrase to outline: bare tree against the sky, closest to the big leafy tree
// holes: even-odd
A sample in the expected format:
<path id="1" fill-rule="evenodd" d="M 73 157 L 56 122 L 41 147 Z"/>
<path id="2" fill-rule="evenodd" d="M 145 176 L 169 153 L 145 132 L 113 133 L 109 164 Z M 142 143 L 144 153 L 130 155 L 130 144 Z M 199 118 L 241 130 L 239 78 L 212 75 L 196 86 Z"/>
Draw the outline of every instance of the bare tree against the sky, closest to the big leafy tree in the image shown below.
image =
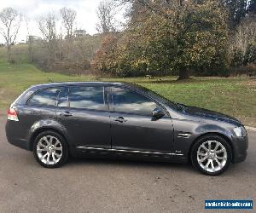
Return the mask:
<path id="1" fill-rule="evenodd" d="M 116 14 L 114 4 L 108 0 L 99 3 L 96 14 L 98 23 L 96 30 L 101 33 L 115 32 L 114 16 Z"/>

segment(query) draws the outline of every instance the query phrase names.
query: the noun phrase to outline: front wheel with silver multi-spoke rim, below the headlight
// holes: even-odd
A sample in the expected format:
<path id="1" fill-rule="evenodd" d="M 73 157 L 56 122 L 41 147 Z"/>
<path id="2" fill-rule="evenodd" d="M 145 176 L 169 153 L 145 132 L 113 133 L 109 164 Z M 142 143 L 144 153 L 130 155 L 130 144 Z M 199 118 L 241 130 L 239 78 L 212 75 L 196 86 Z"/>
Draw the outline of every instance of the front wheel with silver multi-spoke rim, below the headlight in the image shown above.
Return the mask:
<path id="1" fill-rule="evenodd" d="M 207 176 L 218 176 L 231 164 L 230 144 L 219 135 L 205 135 L 195 142 L 190 152 L 191 163 Z"/>

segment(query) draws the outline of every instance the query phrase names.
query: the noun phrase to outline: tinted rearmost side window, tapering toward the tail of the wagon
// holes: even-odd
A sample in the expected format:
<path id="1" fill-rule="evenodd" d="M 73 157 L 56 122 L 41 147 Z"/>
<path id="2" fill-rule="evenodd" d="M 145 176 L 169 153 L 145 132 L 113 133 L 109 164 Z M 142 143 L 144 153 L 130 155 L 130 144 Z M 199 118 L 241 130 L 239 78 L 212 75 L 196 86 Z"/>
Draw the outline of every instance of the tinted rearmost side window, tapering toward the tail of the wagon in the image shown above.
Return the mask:
<path id="1" fill-rule="evenodd" d="M 39 90 L 28 101 L 28 104 L 33 106 L 55 106 L 56 99 L 59 95 L 60 90 L 60 88 L 49 88 Z"/>

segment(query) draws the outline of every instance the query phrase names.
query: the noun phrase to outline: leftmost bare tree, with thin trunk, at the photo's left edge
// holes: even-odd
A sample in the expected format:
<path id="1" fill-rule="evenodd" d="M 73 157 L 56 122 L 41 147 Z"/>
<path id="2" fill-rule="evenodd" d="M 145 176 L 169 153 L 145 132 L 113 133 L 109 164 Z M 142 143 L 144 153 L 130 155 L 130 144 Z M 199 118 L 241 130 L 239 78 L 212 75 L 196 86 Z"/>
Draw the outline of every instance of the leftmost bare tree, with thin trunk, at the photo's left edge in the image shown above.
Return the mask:
<path id="1" fill-rule="evenodd" d="M 2 22 L 0 33 L 4 37 L 7 45 L 8 61 L 11 61 L 11 45 L 15 43 L 20 29 L 21 14 L 15 9 L 5 8 L 0 12 L 0 20 Z"/>

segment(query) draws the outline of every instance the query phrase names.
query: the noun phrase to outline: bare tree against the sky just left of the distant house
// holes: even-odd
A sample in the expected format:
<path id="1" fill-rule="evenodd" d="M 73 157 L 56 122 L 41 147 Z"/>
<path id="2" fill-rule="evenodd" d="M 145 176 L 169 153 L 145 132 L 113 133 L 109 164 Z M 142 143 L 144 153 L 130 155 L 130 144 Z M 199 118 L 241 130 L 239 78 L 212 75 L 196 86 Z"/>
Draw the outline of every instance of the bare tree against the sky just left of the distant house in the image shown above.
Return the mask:
<path id="1" fill-rule="evenodd" d="M 77 12 L 73 9 L 62 8 L 61 9 L 61 18 L 63 26 L 67 30 L 67 38 L 71 38 L 73 36 L 73 23 L 76 19 Z"/>

